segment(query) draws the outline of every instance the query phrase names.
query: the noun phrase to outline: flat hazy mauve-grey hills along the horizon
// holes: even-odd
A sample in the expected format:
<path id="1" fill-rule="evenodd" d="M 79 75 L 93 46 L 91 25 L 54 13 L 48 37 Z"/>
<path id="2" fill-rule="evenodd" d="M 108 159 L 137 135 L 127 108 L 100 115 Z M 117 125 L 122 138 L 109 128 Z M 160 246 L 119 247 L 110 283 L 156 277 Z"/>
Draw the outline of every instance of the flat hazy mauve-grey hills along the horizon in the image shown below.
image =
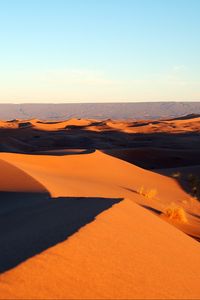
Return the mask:
<path id="1" fill-rule="evenodd" d="M 158 119 L 200 114 L 200 102 L 0 104 L 0 119 Z"/>

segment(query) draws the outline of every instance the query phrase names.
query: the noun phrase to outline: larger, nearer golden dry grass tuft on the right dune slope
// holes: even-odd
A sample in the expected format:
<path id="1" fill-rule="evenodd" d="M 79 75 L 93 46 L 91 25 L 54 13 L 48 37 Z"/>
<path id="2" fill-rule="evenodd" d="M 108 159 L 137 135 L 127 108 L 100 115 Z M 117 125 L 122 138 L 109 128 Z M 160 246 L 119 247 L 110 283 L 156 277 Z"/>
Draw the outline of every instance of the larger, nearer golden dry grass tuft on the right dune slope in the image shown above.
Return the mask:
<path id="1" fill-rule="evenodd" d="M 180 223 L 188 222 L 186 213 L 184 209 L 180 206 L 171 205 L 165 209 L 163 214 L 170 220 L 178 221 Z"/>

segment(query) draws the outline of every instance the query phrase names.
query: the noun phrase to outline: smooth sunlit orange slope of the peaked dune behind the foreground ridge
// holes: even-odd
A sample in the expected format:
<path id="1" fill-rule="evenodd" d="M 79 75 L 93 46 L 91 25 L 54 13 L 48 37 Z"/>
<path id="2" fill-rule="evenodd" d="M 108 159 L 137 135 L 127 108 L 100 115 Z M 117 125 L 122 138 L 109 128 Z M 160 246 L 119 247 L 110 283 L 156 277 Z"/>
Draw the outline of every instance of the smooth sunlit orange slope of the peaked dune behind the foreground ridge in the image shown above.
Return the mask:
<path id="1" fill-rule="evenodd" d="M 157 189 L 157 196 L 165 203 L 188 199 L 175 180 L 101 151 L 64 156 L 1 153 L 0 158 L 39 181 L 53 197 L 128 196 L 135 199 L 143 186 L 146 190 Z"/>

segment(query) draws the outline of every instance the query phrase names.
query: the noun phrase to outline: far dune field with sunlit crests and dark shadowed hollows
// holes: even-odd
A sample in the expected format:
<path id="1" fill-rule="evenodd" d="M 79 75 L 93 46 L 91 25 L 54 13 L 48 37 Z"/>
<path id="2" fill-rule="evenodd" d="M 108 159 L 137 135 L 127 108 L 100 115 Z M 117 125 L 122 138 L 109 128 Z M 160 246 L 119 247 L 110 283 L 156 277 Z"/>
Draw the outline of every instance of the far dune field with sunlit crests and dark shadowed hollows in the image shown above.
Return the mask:
<path id="1" fill-rule="evenodd" d="M 64 154 L 67 149 L 100 149 L 147 169 L 190 166 L 200 164 L 198 119 L 13 120 L 0 128 L 0 151 Z"/>

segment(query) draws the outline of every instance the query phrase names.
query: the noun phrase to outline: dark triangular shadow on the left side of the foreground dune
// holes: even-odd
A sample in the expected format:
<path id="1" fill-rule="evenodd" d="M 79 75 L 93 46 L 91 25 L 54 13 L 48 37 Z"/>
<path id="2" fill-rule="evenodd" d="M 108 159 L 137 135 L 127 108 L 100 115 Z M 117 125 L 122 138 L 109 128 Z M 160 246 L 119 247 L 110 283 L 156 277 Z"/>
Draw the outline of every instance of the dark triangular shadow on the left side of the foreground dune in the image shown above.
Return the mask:
<path id="1" fill-rule="evenodd" d="M 0 272 L 66 240 L 122 200 L 0 192 Z"/>

